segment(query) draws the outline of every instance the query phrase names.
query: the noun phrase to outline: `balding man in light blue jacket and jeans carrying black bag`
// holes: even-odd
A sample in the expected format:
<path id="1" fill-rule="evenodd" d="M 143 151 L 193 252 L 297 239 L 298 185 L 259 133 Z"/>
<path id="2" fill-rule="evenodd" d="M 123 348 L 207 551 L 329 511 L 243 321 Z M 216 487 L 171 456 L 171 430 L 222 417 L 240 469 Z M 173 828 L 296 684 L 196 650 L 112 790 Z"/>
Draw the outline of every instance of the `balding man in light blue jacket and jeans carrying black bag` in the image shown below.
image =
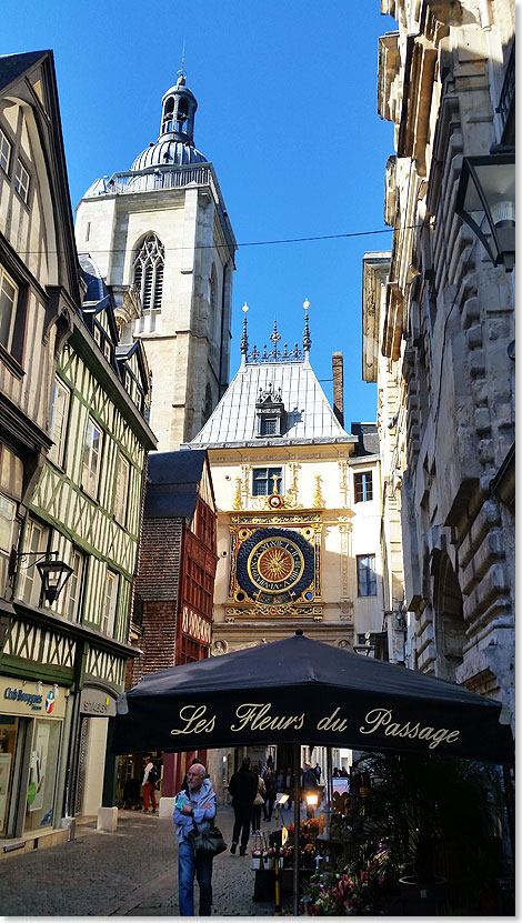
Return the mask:
<path id="1" fill-rule="evenodd" d="M 200 916 L 212 912 L 212 856 L 195 856 L 189 833 L 194 826 L 208 830 L 215 817 L 215 792 L 202 763 L 187 772 L 187 789 L 178 793 L 173 819 L 178 852 L 180 916 L 194 915 L 194 875 L 200 889 Z"/>

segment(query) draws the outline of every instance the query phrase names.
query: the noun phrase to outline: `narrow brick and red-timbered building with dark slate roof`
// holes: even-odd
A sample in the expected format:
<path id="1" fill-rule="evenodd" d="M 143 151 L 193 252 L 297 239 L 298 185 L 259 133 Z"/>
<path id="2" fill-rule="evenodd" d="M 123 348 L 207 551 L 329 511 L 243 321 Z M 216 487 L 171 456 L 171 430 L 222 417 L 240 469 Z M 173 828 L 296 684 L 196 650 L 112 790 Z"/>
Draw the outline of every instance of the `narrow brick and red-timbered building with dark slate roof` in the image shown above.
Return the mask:
<path id="1" fill-rule="evenodd" d="M 135 581 L 139 654 L 129 670 L 128 685 L 155 670 L 209 656 L 218 563 L 215 521 L 207 451 L 153 452 Z M 201 751 L 164 754 L 162 797 L 180 791 L 185 766 L 195 755 L 205 760 Z M 141 754 L 120 758 L 119 769 L 119 799 L 124 804 L 129 787 L 138 783 L 139 792 Z"/>

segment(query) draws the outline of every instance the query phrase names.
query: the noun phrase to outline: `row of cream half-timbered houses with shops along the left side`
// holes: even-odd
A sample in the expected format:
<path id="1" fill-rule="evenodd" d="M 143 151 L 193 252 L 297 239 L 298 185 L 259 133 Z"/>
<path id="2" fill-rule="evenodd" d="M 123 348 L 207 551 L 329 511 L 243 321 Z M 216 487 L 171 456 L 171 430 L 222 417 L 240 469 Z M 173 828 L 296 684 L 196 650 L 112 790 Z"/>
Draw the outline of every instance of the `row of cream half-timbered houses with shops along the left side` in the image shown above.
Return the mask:
<path id="1" fill-rule="evenodd" d="M 0 856 L 69 839 L 101 804 L 134 654 L 148 388 L 79 264 L 52 52 L 1 58 Z"/>

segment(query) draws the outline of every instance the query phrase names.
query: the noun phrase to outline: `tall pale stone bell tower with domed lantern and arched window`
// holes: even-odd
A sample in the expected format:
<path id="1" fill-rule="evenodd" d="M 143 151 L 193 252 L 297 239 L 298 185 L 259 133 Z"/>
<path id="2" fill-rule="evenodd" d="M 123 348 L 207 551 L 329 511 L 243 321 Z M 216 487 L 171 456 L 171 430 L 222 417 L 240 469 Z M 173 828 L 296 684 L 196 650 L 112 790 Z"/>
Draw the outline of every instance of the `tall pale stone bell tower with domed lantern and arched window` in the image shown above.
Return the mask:
<path id="1" fill-rule="evenodd" d="M 158 140 L 130 170 L 96 180 L 77 209 L 78 251 L 114 293 L 121 341 L 143 342 L 163 452 L 195 435 L 229 380 L 237 244 L 213 165 L 194 147 L 197 108 L 181 71 Z"/>

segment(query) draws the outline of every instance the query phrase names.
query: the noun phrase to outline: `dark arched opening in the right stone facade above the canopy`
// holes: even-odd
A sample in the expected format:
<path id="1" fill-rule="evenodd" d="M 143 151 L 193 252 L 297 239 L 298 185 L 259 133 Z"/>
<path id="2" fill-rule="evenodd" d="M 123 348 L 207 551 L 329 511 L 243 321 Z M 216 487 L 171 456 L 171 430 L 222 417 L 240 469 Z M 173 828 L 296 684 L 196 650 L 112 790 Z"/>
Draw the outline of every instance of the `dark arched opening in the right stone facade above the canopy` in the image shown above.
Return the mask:
<path id="1" fill-rule="evenodd" d="M 458 576 L 445 551 L 432 558 L 436 675 L 455 682 L 466 642 L 463 599 Z"/>

